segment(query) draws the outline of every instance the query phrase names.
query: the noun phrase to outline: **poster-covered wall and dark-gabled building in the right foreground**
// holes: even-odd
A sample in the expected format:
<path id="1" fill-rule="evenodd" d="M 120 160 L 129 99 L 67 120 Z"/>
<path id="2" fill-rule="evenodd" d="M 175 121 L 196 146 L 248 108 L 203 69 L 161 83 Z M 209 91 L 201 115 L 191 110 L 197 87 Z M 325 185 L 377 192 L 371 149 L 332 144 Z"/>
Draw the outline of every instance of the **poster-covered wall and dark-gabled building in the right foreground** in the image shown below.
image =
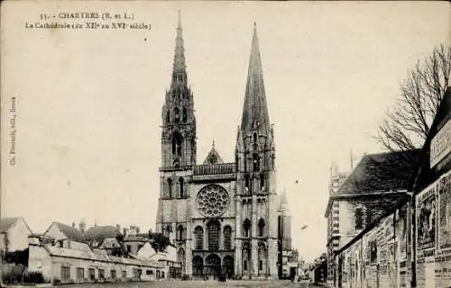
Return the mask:
<path id="1" fill-rule="evenodd" d="M 450 92 L 448 88 L 415 169 L 405 175 L 409 197 L 374 215 L 334 254 L 336 287 L 451 287 Z"/>

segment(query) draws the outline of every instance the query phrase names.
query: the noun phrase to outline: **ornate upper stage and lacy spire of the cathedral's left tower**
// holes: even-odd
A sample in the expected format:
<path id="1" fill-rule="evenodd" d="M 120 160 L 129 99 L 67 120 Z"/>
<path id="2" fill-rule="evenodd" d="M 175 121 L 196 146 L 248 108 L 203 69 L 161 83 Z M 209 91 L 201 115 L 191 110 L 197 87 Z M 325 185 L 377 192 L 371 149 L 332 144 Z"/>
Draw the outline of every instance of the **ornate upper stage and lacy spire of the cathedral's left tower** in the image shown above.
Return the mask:
<path id="1" fill-rule="evenodd" d="M 196 118 L 188 86 L 182 28 L 177 37 L 170 90 L 162 108 L 161 167 L 182 168 L 196 164 Z"/>

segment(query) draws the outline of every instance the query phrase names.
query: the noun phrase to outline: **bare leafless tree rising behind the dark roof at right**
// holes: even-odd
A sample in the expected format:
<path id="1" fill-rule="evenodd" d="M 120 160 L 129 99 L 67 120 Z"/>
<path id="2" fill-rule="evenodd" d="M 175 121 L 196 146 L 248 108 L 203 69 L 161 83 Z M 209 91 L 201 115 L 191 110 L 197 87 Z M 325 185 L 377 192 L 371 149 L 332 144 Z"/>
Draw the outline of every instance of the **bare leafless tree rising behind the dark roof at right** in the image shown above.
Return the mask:
<path id="1" fill-rule="evenodd" d="M 375 137 L 390 151 L 420 148 L 449 85 L 451 48 L 437 46 L 400 85 L 400 99 Z"/>

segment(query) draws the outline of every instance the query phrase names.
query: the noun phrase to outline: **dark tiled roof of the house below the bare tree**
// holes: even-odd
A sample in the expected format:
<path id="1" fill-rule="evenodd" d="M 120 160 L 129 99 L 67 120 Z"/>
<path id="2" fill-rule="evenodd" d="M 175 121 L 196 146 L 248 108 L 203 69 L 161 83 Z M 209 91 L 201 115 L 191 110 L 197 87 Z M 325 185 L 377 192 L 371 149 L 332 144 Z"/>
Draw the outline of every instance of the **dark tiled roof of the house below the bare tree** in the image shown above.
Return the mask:
<path id="1" fill-rule="evenodd" d="M 407 190 L 420 150 L 365 155 L 338 193 L 373 193 Z"/>

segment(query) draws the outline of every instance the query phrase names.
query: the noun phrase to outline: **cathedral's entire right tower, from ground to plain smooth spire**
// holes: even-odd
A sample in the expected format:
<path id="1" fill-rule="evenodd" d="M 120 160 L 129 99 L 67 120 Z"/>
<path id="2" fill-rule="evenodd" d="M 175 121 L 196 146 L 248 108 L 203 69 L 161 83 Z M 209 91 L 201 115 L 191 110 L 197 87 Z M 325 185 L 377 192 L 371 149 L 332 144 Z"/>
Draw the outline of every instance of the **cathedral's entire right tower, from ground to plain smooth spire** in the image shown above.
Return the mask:
<path id="1" fill-rule="evenodd" d="M 277 276 L 275 146 L 264 90 L 262 59 L 254 23 L 244 108 L 235 148 L 236 266 L 244 275 Z M 238 248 L 240 247 L 240 248 Z"/>

